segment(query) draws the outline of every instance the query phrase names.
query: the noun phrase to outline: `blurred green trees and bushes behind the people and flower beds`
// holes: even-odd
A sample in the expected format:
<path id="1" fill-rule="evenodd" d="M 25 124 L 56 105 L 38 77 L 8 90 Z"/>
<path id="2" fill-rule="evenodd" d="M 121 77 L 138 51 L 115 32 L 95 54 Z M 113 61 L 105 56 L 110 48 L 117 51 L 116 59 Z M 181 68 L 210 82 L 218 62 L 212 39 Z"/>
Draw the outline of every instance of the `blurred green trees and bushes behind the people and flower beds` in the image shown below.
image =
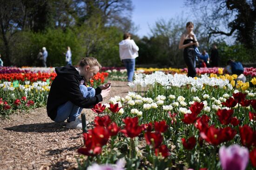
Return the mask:
<path id="1" fill-rule="evenodd" d="M 100 0 L 93 0 L 92 3 L 83 0 L 6 0 L 5 7 L 1 6 L 0 10 L 0 24 L 3 26 L 0 27 L 0 53 L 4 64 L 39 66 L 42 62 L 37 62 L 38 50 L 44 46 L 48 52 L 47 66 L 66 65 L 67 61 L 62 53 L 69 46 L 74 65 L 82 57 L 95 56 L 104 66 L 121 66 L 118 43 L 123 33 L 129 32 L 140 48 L 136 64 L 179 68 L 185 66 L 181 59 L 182 50 L 178 49 L 179 39 L 188 22 L 185 17 L 157 20 L 155 25 L 150 26 L 151 33 L 140 38 L 136 36 L 137 29 L 130 17 L 133 9 L 131 0 L 99 2 Z M 185 2 L 191 9 L 209 5 L 205 1 L 198 1 L 196 4 L 189 0 Z M 218 15 L 215 11 L 220 6 L 212 6 L 211 11 L 219 21 L 225 17 L 229 19 L 229 22 L 223 22 L 227 24 L 227 30 L 221 30 L 222 25 L 216 25 L 218 22 L 215 23 L 215 18 L 210 18 L 210 15 L 208 19 L 194 17 L 192 20 L 195 24 L 194 32 L 200 42 L 200 52 L 206 50 L 209 57 L 215 55 L 216 52 L 212 51 L 212 45 L 215 44 L 220 65 L 225 65 L 230 58 L 251 64 L 255 59 L 255 16 L 252 15 L 255 4 L 247 1 L 240 5 L 236 1 L 230 2 L 231 4 L 226 0 L 216 1 L 216 4 L 220 3 L 224 5 Z M 13 7 L 15 11 L 12 11 Z M 240 10 L 241 7 L 246 9 Z M 5 15 L 6 13 L 10 15 Z M 230 18 L 229 13 L 234 17 Z M 218 30 L 211 30 L 213 28 Z M 222 36 L 219 36 L 221 33 Z M 229 35 L 235 39 L 234 42 L 229 42 Z"/>

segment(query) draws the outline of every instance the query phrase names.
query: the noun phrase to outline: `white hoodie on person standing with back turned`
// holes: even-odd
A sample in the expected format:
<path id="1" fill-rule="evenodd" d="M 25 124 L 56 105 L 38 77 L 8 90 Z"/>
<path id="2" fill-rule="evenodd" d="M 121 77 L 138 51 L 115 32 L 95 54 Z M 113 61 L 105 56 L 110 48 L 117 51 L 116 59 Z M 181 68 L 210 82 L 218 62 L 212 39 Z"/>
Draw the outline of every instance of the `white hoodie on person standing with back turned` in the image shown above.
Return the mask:
<path id="1" fill-rule="evenodd" d="M 139 47 L 133 39 L 125 39 L 119 43 L 120 59 L 135 59 L 139 56 Z"/>

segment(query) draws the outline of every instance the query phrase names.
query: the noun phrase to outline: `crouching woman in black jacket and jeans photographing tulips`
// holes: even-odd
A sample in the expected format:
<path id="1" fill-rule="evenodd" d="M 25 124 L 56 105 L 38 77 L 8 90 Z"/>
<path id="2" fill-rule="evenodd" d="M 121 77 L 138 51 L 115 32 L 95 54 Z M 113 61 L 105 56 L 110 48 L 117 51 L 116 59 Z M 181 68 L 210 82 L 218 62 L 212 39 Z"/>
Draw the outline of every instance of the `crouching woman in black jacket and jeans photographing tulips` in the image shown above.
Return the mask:
<path id="1" fill-rule="evenodd" d="M 66 128 L 81 129 L 81 119 L 78 117 L 82 109 L 92 108 L 107 97 L 110 91 L 110 83 L 96 89 L 86 86 L 100 69 L 101 64 L 92 57 L 82 59 L 79 67 L 69 64 L 56 67 L 57 76 L 47 98 L 47 115 L 57 123 L 67 119 Z"/>

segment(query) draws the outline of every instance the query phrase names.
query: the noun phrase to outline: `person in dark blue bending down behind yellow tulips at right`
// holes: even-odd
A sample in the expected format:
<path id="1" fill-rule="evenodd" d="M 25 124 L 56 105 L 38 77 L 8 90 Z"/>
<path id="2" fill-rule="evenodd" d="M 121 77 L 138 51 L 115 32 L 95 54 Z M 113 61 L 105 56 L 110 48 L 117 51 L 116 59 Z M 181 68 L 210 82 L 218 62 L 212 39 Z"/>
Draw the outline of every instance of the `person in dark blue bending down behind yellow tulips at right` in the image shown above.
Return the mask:
<path id="1" fill-rule="evenodd" d="M 227 66 L 223 70 L 223 74 L 236 74 L 236 80 L 241 80 L 243 83 L 246 81 L 246 77 L 243 75 L 243 65 L 240 62 L 236 62 L 233 59 L 229 59 L 227 62 Z"/>

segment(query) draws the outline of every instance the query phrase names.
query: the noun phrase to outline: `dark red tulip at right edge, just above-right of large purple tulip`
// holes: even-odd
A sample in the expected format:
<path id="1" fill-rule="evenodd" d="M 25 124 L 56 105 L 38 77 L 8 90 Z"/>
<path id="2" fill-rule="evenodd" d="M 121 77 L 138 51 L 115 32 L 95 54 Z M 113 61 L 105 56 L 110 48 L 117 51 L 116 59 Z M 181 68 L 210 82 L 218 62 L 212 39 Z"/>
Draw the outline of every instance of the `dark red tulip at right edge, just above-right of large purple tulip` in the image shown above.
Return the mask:
<path id="1" fill-rule="evenodd" d="M 256 144 L 256 132 L 252 130 L 250 126 L 245 124 L 243 127 L 239 127 L 241 143 L 244 146 L 250 147 Z"/>

